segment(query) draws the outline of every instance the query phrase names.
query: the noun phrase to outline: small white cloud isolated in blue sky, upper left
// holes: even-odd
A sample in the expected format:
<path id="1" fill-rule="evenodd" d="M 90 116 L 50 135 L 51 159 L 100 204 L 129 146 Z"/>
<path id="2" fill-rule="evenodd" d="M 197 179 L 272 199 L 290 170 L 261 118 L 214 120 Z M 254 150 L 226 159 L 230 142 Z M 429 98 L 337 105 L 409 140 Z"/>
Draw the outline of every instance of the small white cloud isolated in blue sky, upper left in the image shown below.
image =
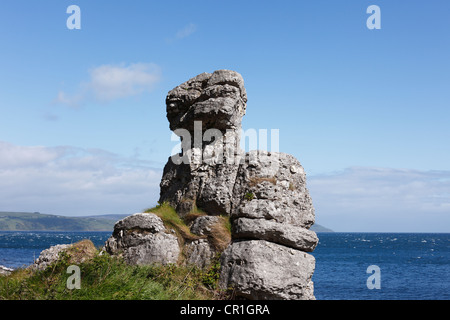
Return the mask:
<path id="1" fill-rule="evenodd" d="M 161 70 L 152 63 L 102 65 L 91 69 L 89 75 L 77 93 L 60 91 L 55 102 L 79 107 L 90 99 L 105 103 L 149 92 L 160 81 Z"/>

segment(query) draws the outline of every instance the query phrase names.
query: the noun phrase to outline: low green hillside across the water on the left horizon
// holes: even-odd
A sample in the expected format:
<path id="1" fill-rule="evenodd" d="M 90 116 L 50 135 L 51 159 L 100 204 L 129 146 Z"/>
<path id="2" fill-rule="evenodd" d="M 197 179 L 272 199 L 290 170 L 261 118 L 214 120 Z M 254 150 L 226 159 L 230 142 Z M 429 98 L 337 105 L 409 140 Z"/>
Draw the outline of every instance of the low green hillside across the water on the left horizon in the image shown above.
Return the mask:
<path id="1" fill-rule="evenodd" d="M 109 216 L 65 217 L 0 211 L 0 231 L 112 231 L 117 220 Z"/>

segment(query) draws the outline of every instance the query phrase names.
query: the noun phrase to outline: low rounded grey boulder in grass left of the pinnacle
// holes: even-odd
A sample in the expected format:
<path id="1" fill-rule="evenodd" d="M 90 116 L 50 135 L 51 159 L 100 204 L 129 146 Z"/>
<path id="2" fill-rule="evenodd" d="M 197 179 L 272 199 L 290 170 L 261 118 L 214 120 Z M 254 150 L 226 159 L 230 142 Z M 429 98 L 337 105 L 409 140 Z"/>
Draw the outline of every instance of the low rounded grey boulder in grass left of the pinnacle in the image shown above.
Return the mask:
<path id="1" fill-rule="evenodd" d="M 177 263 L 178 238 L 169 232 L 157 215 L 136 213 L 115 224 L 104 249 L 112 255 L 123 255 L 129 264 Z"/>

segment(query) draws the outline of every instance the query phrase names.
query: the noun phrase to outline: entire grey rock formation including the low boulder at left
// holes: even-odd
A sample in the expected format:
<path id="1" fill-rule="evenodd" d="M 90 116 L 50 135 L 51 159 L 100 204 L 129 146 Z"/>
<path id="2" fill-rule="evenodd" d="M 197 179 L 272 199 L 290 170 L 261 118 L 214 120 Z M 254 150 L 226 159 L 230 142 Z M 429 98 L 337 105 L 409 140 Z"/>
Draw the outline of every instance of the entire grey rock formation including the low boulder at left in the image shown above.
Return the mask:
<path id="1" fill-rule="evenodd" d="M 188 222 L 190 234 L 180 238 L 156 214 L 137 213 L 116 223 L 105 251 L 130 264 L 200 267 L 220 254 L 219 286 L 236 297 L 314 299 L 308 252 L 318 239 L 305 170 L 289 154 L 240 149 L 246 103 L 242 76 L 229 70 L 202 73 L 168 93 L 181 152 L 164 167 L 159 202 Z"/>

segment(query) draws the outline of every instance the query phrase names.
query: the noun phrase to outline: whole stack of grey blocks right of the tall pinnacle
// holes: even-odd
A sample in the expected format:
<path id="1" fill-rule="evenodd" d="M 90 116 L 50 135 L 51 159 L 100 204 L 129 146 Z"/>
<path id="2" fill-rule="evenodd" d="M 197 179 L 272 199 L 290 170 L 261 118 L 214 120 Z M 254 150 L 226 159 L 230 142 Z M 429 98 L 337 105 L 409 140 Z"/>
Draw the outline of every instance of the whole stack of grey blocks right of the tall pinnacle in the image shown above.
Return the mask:
<path id="1" fill-rule="evenodd" d="M 293 156 L 252 151 L 233 190 L 233 239 L 222 254 L 221 286 L 247 299 L 314 299 L 318 243 L 303 167 Z"/>

